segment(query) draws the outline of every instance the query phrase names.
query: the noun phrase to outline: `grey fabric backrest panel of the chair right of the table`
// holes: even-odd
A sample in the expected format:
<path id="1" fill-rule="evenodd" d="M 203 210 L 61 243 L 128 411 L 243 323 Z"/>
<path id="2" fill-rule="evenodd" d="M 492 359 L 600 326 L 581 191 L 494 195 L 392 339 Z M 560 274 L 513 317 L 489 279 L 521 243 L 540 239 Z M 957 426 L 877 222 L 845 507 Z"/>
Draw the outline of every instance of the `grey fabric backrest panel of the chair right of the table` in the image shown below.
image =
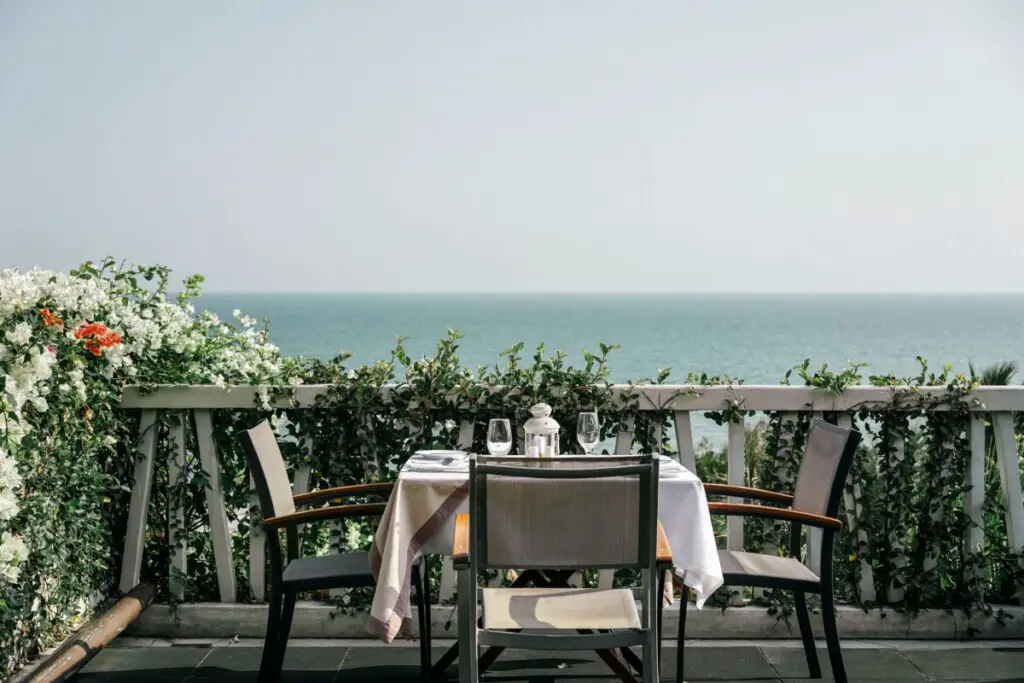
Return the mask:
<path id="1" fill-rule="evenodd" d="M 814 420 L 807 432 L 793 509 L 835 517 L 843 485 L 860 442 L 860 432 Z"/>

